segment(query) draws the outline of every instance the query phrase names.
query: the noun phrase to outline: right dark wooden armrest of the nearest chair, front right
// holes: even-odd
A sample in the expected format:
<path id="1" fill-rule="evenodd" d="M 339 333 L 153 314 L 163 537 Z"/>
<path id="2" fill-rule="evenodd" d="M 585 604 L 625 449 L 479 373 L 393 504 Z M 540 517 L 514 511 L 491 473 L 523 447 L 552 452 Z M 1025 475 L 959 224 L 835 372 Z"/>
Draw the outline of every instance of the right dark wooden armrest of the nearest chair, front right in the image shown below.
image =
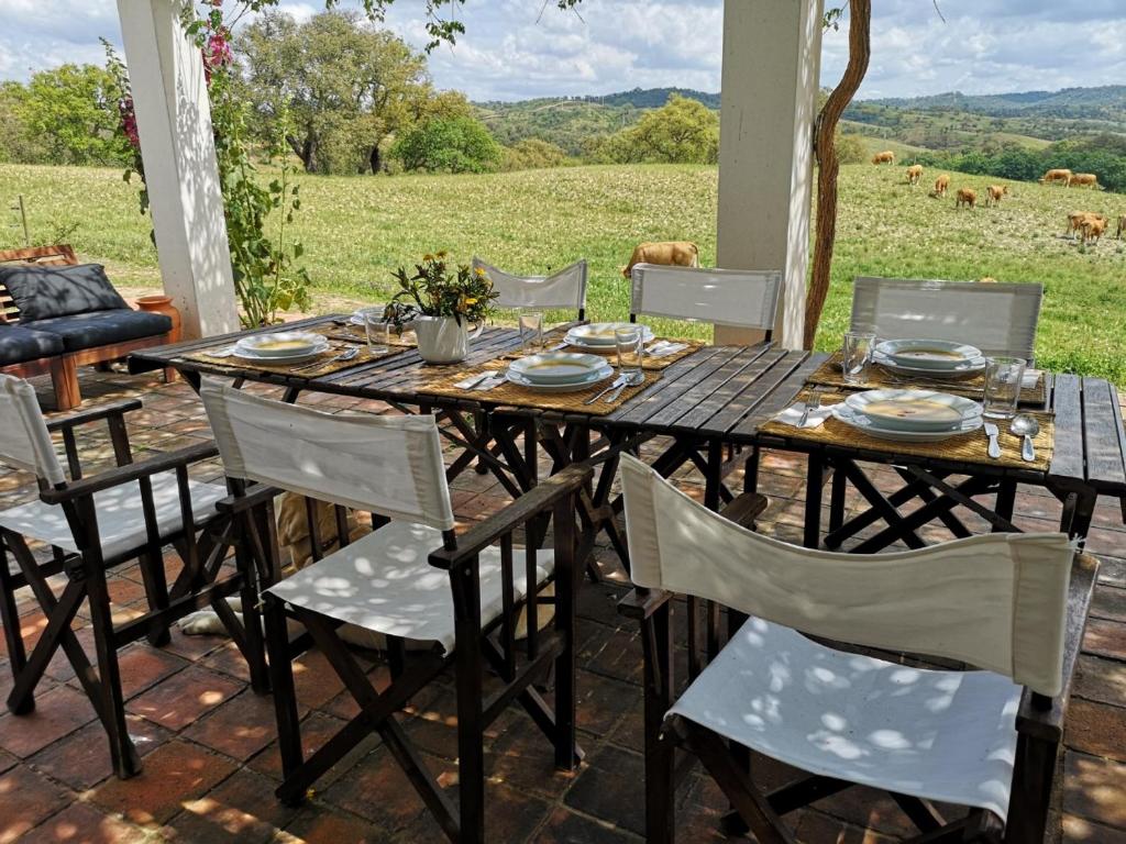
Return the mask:
<path id="1" fill-rule="evenodd" d="M 1076 554 L 1071 567 L 1067 592 L 1067 629 L 1064 632 L 1063 688 L 1055 698 L 1036 694 L 1027 688 L 1017 711 L 1017 730 L 1035 738 L 1058 743 L 1063 739 L 1063 725 L 1067 716 L 1071 684 L 1075 676 L 1079 652 L 1083 646 L 1087 613 L 1099 573 L 1099 560 L 1089 554 Z"/>

